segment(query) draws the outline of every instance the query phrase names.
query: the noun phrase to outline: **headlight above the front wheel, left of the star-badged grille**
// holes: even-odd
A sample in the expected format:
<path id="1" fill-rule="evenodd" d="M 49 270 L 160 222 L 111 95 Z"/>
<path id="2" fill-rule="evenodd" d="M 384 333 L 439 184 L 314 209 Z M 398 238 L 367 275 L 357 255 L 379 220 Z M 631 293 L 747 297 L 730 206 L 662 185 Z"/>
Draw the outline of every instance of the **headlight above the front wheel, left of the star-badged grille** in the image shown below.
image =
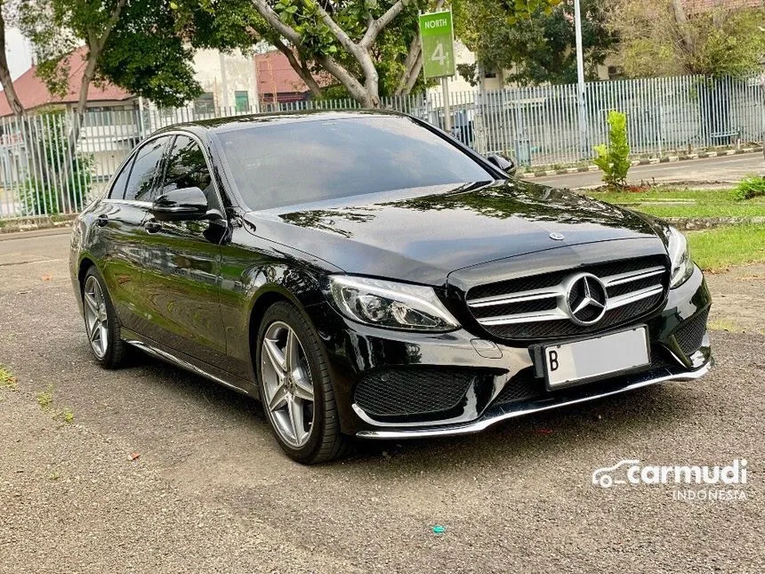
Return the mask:
<path id="1" fill-rule="evenodd" d="M 366 325 L 411 331 L 459 327 L 431 287 L 333 275 L 329 292 L 343 315 Z"/>

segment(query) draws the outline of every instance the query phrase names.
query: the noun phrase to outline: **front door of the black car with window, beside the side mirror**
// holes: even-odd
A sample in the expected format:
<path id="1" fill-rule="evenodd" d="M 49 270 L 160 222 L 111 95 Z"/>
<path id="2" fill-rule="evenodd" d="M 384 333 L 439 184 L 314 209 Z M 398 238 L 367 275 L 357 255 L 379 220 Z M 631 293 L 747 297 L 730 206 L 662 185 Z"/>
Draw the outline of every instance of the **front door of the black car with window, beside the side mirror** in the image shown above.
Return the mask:
<path id="1" fill-rule="evenodd" d="M 156 195 L 198 187 L 209 209 L 224 213 L 210 165 L 199 141 L 177 134 L 168 153 Z M 157 222 L 149 214 L 145 293 L 147 336 L 175 351 L 221 367 L 225 331 L 221 320 L 219 276 L 226 228 L 220 223 Z"/>

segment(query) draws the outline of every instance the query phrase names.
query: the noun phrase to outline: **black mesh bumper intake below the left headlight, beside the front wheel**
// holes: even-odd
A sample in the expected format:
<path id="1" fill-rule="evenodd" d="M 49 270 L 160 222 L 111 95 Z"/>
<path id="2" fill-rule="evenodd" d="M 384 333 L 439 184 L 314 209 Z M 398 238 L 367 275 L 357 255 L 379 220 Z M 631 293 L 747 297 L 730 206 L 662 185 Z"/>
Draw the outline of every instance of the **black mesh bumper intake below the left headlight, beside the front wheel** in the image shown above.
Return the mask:
<path id="1" fill-rule="evenodd" d="M 416 416 L 456 408 L 476 378 L 471 369 L 386 368 L 364 377 L 354 400 L 369 416 Z"/>

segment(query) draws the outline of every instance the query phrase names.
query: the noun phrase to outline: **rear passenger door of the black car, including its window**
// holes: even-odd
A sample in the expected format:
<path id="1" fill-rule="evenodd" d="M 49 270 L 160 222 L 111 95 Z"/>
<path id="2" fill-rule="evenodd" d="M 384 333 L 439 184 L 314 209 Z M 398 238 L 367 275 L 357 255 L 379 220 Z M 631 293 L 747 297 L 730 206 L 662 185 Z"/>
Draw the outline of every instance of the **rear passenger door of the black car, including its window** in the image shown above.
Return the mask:
<path id="1" fill-rule="evenodd" d="M 120 168 L 107 199 L 94 212 L 97 234 L 93 242 L 101 253 L 101 274 L 106 281 L 120 323 L 141 332 L 143 241 L 142 224 L 149 212 L 165 147 L 170 137 L 146 141 Z"/>

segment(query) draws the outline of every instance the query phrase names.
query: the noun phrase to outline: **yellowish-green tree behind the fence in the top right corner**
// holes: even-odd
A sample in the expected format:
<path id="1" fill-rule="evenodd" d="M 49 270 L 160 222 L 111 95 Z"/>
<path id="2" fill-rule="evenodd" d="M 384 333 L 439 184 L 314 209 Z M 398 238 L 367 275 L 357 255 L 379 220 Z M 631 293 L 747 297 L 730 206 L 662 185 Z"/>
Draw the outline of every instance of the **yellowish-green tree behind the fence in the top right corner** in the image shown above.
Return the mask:
<path id="1" fill-rule="evenodd" d="M 761 71 L 765 9 L 721 0 L 706 4 L 619 0 L 610 24 L 622 39 L 627 75 L 745 77 Z"/>

